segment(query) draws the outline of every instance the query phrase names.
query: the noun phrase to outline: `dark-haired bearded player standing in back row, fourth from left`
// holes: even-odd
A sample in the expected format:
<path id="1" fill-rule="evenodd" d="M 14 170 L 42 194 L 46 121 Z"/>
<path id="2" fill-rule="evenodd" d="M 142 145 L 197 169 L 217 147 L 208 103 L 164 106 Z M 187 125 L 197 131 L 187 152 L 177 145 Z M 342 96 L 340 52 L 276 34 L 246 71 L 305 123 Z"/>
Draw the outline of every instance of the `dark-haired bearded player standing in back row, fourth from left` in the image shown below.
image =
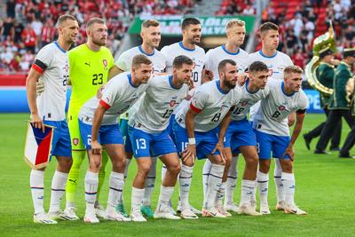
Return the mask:
<path id="1" fill-rule="evenodd" d="M 183 39 L 181 42 L 173 43 L 162 48 L 162 53 L 167 59 L 166 71 L 171 73 L 173 67 L 173 60 L 179 55 L 185 55 L 190 59 L 193 59 L 193 86 L 199 87 L 201 83 L 210 80 L 208 72 L 205 71 L 205 51 L 197 44 L 201 42 L 201 22 L 195 18 L 186 18 L 181 24 L 181 30 L 183 34 Z M 189 92 L 191 96 L 193 91 Z M 180 106 L 181 107 L 181 106 Z M 177 107 L 177 110 L 180 108 Z M 177 111 L 174 111 L 170 118 L 170 136 L 174 137 L 172 134 L 172 123 Z M 162 168 L 162 178 L 165 176 L 165 167 Z M 201 211 L 195 209 L 191 206 L 191 209 L 195 214 L 201 214 Z M 177 211 L 180 210 L 180 205 L 177 205 Z"/>

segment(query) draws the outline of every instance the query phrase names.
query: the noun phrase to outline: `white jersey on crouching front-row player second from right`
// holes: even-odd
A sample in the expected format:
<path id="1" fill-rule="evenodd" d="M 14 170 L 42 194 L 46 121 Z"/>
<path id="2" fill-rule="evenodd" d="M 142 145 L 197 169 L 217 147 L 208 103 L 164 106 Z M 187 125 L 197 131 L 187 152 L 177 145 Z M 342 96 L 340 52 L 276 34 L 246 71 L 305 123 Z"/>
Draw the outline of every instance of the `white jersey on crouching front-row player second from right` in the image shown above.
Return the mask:
<path id="1" fill-rule="evenodd" d="M 258 101 L 264 99 L 270 92 L 269 86 L 266 85 L 264 90 L 258 90 L 255 92 L 248 91 L 248 83 L 241 86 L 241 98 L 237 105 L 233 107 L 231 119 L 233 121 L 240 121 L 247 117 L 250 107 L 254 106 Z"/>

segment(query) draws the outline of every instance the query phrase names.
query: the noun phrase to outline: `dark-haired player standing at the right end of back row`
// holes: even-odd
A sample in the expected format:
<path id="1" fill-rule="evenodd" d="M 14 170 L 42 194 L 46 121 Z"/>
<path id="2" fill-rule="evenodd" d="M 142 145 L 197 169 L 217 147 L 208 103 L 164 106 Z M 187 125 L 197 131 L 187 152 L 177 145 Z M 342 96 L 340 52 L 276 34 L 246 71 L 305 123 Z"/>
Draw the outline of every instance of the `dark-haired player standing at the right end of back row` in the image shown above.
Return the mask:
<path id="1" fill-rule="evenodd" d="M 283 71 L 286 67 L 292 66 L 293 62 L 287 54 L 277 51 L 279 46 L 279 27 L 272 22 L 265 22 L 260 27 L 260 36 L 262 41 L 262 49 L 249 54 L 250 63 L 254 61 L 262 61 L 269 67 L 270 77 L 269 81 L 276 80 L 281 82 L 283 80 Z M 256 113 L 260 103 L 250 109 L 250 121 L 253 121 L 253 115 Z M 293 125 L 295 122 L 295 114 L 288 116 L 288 125 Z M 274 181 L 277 193 L 276 209 L 283 209 L 284 197 L 282 195 L 281 184 L 281 166 L 278 159 L 275 160 Z M 259 180 L 258 178 L 256 178 Z M 258 184 L 260 184 L 258 182 Z M 264 193 L 264 192 L 262 192 Z M 266 191 L 267 193 L 267 191 Z M 255 200 L 254 200 L 255 201 Z"/>

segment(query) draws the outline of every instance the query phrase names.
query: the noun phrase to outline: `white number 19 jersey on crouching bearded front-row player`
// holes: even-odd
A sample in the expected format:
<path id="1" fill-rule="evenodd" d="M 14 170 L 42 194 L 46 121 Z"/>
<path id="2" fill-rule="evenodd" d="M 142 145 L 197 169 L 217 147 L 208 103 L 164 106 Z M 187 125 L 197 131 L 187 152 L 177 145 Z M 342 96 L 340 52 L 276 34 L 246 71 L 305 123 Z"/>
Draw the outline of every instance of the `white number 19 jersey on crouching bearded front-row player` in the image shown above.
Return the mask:
<path id="1" fill-rule="evenodd" d="M 229 92 L 222 91 L 219 80 L 202 84 L 193 94 L 191 102 L 181 108 L 175 119 L 185 128 L 185 115 L 189 108 L 199 113 L 194 117 L 194 130 L 209 131 L 218 126 L 228 111 L 237 104 L 241 96 L 241 88 L 235 87 Z"/>

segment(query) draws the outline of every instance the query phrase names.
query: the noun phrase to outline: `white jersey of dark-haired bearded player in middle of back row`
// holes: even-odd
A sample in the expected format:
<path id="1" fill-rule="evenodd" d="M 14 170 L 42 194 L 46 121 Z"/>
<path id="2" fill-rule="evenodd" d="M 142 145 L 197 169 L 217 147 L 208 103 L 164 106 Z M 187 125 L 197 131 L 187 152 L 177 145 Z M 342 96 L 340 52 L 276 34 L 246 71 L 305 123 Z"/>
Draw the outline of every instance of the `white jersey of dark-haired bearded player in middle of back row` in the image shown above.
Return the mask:
<path id="1" fill-rule="evenodd" d="M 185 55 L 190 59 L 193 59 L 195 64 L 193 68 L 193 85 L 198 87 L 201 85 L 202 70 L 205 67 L 206 55 L 205 51 L 199 47 L 195 46 L 194 50 L 190 50 L 184 47 L 182 42 L 173 43 L 162 48 L 162 53 L 167 59 L 166 71 L 172 73 L 172 62 L 179 55 Z"/>

